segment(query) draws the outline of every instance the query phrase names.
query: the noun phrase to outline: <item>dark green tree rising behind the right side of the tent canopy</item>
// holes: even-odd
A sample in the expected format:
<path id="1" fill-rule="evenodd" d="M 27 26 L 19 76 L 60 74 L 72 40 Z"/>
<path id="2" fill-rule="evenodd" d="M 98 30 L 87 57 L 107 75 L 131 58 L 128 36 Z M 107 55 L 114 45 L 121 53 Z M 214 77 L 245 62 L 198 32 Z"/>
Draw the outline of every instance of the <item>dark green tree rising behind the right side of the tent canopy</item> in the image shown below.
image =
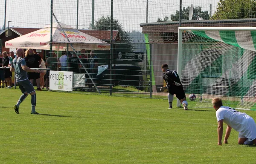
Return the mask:
<path id="1" fill-rule="evenodd" d="M 88 29 L 92 29 L 92 24 Z M 94 23 L 94 28 L 96 30 L 111 30 L 111 17 L 108 15 L 107 17 L 102 16 Z M 129 36 L 128 32 L 123 29 L 122 24 L 117 19 L 113 19 L 113 30 L 118 30 L 119 37 L 120 37 L 120 44 L 116 44 L 116 49 L 119 51 L 131 51 L 131 37 Z M 110 38 L 110 36 L 109 36 Z M 106 38 L 106 39 L 109 39 Z"/>

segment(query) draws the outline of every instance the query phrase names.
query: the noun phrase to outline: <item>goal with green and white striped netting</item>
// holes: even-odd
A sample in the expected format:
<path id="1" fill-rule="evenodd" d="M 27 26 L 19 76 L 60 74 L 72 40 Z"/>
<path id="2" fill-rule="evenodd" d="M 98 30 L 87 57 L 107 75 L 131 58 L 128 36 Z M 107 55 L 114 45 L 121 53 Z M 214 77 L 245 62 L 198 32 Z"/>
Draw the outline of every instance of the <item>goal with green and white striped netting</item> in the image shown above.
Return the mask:
<path id="1" fill-rule="evenodd" d="M 178 68 L 195 107 L 225 106 L 256 110 L 256 28 L 180 27 Z M 177 103 L 177 106 L 180 106 Z"/>

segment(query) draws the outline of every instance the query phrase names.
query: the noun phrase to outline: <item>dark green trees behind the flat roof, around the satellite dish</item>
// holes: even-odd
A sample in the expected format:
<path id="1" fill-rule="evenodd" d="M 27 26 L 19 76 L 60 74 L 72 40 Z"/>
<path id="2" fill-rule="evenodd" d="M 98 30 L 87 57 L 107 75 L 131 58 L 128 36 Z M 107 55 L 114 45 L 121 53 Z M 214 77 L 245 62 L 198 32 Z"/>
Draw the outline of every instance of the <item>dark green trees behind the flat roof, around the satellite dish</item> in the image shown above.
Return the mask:
<path id="1" fill-rule="evenodd" d="M 189 20 L 189 6 L 187 6 L 186 8 L 183 7 L 182 11 L 181 11 L 181 19 L 182 20 Z M 169 17 L 166 16 L 163 20 L 161 18 L 157 19 L 157 22 L 166 22 L 166 21 L 177 21 L 180 18 L 180 11 L 176 10 L 175 14 L 171 14 L 170 20 Z M 204 20 L 209 20 L 210 15 L 208 13 L 208 11 L 202 11 L 202 7 L 201 6 L 196 6 L 194 8 L 194 12 L 193 12 L 193 17 L 192 20 L 197 20 L 198 18 L 202 18 Z"/>

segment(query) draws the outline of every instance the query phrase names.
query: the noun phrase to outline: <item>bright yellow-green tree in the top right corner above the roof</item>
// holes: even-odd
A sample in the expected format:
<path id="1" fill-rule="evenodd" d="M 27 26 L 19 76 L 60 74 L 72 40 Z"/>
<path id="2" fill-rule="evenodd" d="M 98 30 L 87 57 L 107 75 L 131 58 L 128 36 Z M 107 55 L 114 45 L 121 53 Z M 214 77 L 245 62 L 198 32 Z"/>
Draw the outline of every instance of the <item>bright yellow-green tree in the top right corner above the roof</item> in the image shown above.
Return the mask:
<path id="1" fill-rule="evenodd" d="M 256 0 L 220 0 L 211 19 L 242 19 L 256 17 Z"/>

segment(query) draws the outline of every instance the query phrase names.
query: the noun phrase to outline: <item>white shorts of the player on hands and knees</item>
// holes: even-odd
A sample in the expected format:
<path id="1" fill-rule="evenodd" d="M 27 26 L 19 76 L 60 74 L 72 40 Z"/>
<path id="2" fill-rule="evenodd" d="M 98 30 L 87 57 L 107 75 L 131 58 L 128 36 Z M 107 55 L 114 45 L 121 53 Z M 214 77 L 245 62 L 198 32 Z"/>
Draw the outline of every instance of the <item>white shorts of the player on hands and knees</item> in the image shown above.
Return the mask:
<path id="1" fill-rule="evenodd" d="M 238 138 L 248 138 L 249 141 L 253 141 L 256 138 L 256 124 L 253 118 L 248 119 L 247 130 L 239 132 Z"/>

